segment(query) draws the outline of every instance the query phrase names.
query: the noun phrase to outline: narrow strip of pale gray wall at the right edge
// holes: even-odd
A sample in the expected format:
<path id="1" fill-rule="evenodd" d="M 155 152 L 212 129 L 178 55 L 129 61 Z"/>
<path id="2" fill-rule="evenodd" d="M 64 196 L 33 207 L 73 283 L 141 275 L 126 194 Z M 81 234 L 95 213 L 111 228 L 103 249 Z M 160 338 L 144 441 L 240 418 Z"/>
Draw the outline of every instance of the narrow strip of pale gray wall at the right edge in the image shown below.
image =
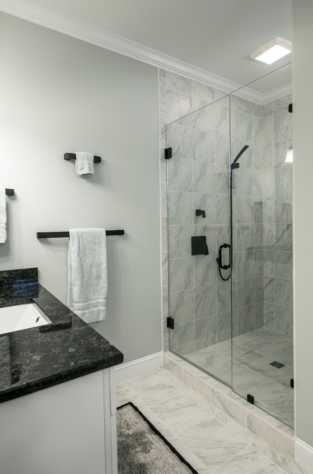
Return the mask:
<path id="1" fill-rule="evenodd" d="M 296 436 L 313 446 L 313 2 L 293 2 Z"/>

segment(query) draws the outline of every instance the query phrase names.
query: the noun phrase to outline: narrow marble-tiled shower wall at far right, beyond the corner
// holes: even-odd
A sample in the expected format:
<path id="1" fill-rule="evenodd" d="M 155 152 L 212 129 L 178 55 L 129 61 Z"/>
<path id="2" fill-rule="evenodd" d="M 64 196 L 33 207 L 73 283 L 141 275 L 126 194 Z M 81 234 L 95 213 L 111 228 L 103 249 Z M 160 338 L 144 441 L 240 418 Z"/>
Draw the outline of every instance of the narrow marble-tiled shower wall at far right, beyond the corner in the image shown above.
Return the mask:
<path id="1" fill-rule="evenodd" d="M 293 335 L 292 195 L 293 120 L 288 112 L 292 94 L 263 109 L 264 325 Z"/>

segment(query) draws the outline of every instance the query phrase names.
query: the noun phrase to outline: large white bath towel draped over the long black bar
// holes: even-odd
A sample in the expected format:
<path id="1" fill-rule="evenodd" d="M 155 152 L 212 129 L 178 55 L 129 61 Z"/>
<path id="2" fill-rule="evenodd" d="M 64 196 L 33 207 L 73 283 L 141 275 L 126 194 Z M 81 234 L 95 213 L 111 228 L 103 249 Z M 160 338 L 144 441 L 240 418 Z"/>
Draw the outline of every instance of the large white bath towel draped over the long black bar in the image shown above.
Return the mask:
<path id="1" fill-rule="evenodd" d="M 104 229 L 70 229 L 68 307 L 87 323 L 105 319 L 107 295 Z"/>

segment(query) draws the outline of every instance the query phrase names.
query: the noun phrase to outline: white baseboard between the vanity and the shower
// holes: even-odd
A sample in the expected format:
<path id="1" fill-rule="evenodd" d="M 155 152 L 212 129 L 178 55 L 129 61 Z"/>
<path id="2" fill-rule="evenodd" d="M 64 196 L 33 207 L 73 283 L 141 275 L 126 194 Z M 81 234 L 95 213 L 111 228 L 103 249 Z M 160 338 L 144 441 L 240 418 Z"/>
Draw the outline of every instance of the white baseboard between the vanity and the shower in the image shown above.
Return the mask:
<path id="1" fill-rule="evenodd" d="M 125 364 L 116 365 L 115 367 L 115 379 L 116 383 L 124 382 L 124 380 L 137 377 L 138 375 L 145 374 L 151 370 L 156 370 L 162 367 L 163 364 L 163 353 L 157 352 L 150 356 L 141 357 L 140 359 L 126 362 Z"/>

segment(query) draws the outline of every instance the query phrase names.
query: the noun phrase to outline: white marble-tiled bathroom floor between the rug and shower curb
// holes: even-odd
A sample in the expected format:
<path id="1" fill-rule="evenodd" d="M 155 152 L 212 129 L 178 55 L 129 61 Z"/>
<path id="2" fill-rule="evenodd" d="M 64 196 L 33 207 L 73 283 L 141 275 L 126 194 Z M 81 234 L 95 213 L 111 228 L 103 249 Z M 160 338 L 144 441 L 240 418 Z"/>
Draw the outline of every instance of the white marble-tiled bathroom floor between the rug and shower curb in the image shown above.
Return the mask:
<path id="1" fill-rule="evenodd" d="M 172 379 L 167 370 L 159 369 L 156 373 L 151 376 L 147 374 L 147 378 L 143 378 L 140 383 L 130 380 L 118 384 L 117 406 L 128 401 L 136 405 L 199 474 L 302 472 L 298 466 L 282 455 L 275 458 L 273 463 L 255 447 L 261 446 L 264 449 L 262 452 L 270 453 L 272 448 L 264 441 L 184 384 L 179 385 L 181 387 L 179 390 L 175 388 L 168 382 Z M 165 384 L 162 383 L 162 378 Z M 135 394 L 134 390 L 138 385 L 141 390 L 136 390 Z M 273 400 L 277 404 L 277 399 L 281 399 L 290 407 L 290 398 L 283 388 L 275 384 L 272 390 L 270 388 L 263 390 L 262 401 L 269 403 Z M 145 401 L 149 400 L 147 393 L 151 390 L 156 390 L 158 398 L 163 401 L 149 408 Z M 173 396 L 176 390 L 178 394 Z M 208 410 L 208 405 L 211 410 Z"/>

